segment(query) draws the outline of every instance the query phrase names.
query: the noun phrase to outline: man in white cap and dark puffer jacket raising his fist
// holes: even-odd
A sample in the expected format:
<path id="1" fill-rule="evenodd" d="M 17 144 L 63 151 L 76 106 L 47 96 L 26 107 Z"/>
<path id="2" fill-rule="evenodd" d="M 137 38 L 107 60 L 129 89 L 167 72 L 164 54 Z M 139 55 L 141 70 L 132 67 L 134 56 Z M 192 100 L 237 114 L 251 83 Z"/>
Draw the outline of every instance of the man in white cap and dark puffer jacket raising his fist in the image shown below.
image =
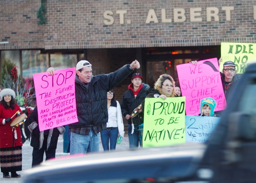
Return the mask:
<path id="1" fill-rule="evenodd" d="M 140 63 L 134 60 L 109 74 L 92 75 L 92 64 L 81 60 L 76 64 L 75 94 L 78 122 L 69 124 L 71 131 L 70 154 L 98 152 L 99 132 L 107 129 L 108 107 L 106 93 L 116 87 Z M 54 68 L 47 69 L 54 75 Z"/>

